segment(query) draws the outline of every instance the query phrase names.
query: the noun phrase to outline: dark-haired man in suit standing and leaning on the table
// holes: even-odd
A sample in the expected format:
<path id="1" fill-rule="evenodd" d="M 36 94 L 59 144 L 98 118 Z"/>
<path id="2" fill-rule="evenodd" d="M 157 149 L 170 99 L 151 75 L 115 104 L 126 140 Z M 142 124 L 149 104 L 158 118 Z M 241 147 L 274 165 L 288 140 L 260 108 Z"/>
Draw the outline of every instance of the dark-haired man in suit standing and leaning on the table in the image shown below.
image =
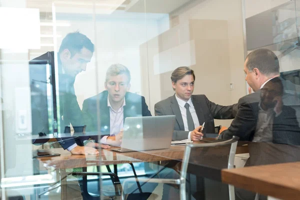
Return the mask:
<path id="1" fill-rule="evenodd" d="M 60 122 L 59 133 L 64 131 L 65 126 L 80 126 L 84 125 L 82 113 L 77 102 L 77 98 L 74 92 L 74 81 L 76 75 L 85 71 L 86 64 L 90 61 L 94 51 L 94 45 L 86 35 L 79 32 L 68 33 L 62 40 L 59 51 L 57 53 L 57 69 L 58 69 L 58 85 L 55 86 L 55 61 L 56 57 L 54 51 L 46 52 L 33 60 L 30 61 L 30 66 L 36 66 L 39 63 L 48 63 L 51 68 L 51 84 L 54 88 L 59 88 L 59 115 L 57 120 Z M 46 75 L 45 70 L 39 70 L 37 67 L 30 67 L 30 77 L 34 81 L 35 77 L 45 81 Z M 41 73 L 39 73 L 41 72 Z M 39 73 L 39 75 L 37 75 Z M 37 76 L 36 76 L 37 75 Z M 41 77 L 39 77 L 41 76 Z M 40 81 L 39 81 L 40 82 Z M 55 91 L 54 91 L 55 92 Z M 56 99 L 53 99 L 54 104 Z M 31 102 L 33 105 L 34 101 Z M 32 116 L 32 121 L 36 123 L 35 120 L 39 120 L 36 116 L 42 116 L 47 110 L 47 106 L 39 107 L 40 114 L 34 114 Z M 54 110 L 55 112 L 56 110 Z M 39 120 L 40 123 L 48 123 L 47 115 L 42 116 Z M 40 125 L 37 127 L 45 127 L 46 125 Z M 54 127 L 55 128 L 55 127 Z M 40 132 L 43 129 L 36 129 Z M 97 154 L 98 151 L 93 148 L 96 147 L 96 143 L 92 146 L 79 146 L 77 143 L 82 143 L 77 140 L 77 143 L 74 138 L 56 138 L 60 145 L 69 150 L 72 154 Z M 102 145 L 102 147 L 107 148 L 108 146 Z"/>

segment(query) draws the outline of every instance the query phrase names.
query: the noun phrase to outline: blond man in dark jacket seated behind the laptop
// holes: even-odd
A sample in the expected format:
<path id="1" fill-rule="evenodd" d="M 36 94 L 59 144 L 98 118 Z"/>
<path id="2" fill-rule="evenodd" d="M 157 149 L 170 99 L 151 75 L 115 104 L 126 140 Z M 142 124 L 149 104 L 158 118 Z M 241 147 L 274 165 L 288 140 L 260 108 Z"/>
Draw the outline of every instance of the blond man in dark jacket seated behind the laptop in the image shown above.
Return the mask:
<path id="1" fill-rule="evenodd" d="M 96 131 L 98 121 L 102 143 L 119 143 L 124 120 L 128 116 L 151 116 L 145 98 L 130 89 L 130 71 L 122 64 L 112 64 L 106 71 L 105 89 L 83 101 L 82 112 L 87 131 Z M 97 117 L 99 112 L 99 118 Z M 98 120 L 99 119 L 99 120 Z"/>

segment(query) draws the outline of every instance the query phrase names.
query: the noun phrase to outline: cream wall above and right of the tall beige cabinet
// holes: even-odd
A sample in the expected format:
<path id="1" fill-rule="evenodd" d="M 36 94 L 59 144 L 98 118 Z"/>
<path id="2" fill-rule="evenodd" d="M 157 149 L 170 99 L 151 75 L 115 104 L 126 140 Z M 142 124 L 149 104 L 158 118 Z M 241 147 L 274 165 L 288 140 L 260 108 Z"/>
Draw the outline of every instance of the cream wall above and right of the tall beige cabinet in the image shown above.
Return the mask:
<path id="1" fill-rule="evenodd" d="M 230 80 L 229 82 L 223 82 L 220 80 L 211 86 L 213 90 L 217 90 L 218 84 L 226 84 L 226 92 L 230 93 L 230 101 L 223 102 L 228 104 L 236 103 L 238 98 L 245 94 L 241 0 L 204 0 L 201 3 L 193 4 L 193 6 L 188 10 L 184 10 L 183 8 L 182 11 L 178 10 L 172 13 L 172 15 L 178 15 L 180 23 L 183 23 L 188 19 L 215 19 L 227 21 L 230 66 L 228 70 L 230 70 Z M 229 90 L 230 82 L 233 82 L 234 84 L 233 90 Z M 216 103 L 220 101 L 220 99 L 211 100 Z"/>

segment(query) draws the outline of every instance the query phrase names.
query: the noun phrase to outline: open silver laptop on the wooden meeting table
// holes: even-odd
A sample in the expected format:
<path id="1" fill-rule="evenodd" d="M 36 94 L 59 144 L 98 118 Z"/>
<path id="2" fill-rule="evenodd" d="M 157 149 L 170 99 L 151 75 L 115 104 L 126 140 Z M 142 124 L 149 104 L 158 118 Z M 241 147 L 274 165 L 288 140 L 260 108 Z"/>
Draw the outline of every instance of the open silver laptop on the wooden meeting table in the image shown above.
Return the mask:
<path id="1" fill-rule="evenodd" d="M 169 148 L 175 124 L 175 115 L 126 117 L 118 152 Z"/>

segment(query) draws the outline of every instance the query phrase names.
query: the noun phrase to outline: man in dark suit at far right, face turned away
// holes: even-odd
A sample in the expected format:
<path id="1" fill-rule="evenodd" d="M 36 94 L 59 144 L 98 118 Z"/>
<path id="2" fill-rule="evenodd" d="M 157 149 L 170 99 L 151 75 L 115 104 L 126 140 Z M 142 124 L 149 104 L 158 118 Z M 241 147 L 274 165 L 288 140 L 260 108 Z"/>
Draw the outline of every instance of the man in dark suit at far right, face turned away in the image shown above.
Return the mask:
<path id="1" fill-rule="evenodd" d="M 236 116 L 228 129 L 220 130 L 219 138 L 236 135 L 240 140 L 299 145 L 295 110 L 282 103 L 284 88 L 277 56 L 269 49 L 254 50 L 245 59 L 244 71 L 254 93 L 238 100 Z"/>

